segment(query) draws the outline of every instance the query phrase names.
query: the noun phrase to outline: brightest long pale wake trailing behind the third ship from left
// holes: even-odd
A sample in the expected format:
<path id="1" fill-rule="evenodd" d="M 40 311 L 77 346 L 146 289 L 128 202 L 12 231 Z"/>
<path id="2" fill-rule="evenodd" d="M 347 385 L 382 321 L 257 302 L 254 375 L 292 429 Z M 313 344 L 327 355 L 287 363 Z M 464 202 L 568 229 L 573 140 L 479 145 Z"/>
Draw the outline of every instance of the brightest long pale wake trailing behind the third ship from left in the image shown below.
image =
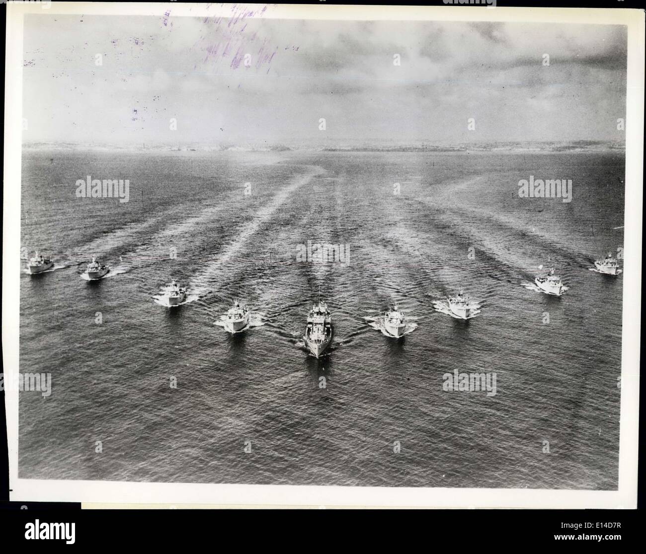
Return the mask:
<path id="1" fill-rule="evenodd" d="M 245 243 L 247 243 L 247 241 L 249 241 L 249 239 L 262 228 L 262 225 L 271 219 L 276 210 L 287 200 L 287 198 L 289 198 L 289 196 L 299 187 L 309 183 L 313 177 L 326 171 L 322 167 L 318 166 L 306 167 L 309 168 L 309 171 L 305 175 L 298 176 L 293 179 L 287 187 L 280 190 L 280 192 L 278 192 L 278 194 L 276 194 L 269 203 L 256 212 L 253 221 L 247 224 L 244 231 L 240 232 L 236 240 L 229 243 L 229 245 L 227 245 L 227 247 L 218 254 L 217 260 L 207 263 L 205 269 L 193 276 L 191 279 L 191 288 L 194 292 L 203 296 L 208 292 L 213 291 L 212 283 L 216 278 L 218 278 L 218 276 L 222 276 L 226 269 L 227 262 L 235 258 L 236 254 L 244 248 Z"/>

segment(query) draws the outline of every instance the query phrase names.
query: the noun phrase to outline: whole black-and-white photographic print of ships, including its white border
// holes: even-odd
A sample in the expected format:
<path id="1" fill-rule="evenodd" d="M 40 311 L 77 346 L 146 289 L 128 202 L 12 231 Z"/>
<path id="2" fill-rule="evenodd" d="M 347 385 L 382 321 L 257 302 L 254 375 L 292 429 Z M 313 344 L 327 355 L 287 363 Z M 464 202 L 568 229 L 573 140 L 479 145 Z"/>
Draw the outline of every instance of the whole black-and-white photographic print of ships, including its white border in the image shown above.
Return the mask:
<path id="1" fill-rule="evenodd" d="M 12 480 L 618 491 L 629 10 L 112 6 L 10 6 Z"/>

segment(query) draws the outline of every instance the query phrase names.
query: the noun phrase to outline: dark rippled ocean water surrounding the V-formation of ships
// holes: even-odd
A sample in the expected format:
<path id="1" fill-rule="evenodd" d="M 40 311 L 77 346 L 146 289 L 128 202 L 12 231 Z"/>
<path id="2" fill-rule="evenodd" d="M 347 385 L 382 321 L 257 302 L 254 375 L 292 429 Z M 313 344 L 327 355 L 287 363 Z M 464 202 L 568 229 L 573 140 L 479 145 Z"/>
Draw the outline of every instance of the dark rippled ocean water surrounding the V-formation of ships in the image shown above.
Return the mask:
<path id="1" fill-rule="evenodd" d="M 616 489 L 622 277 L 589 268 L 623 245 L 624 166 L 25 150 L 21 246 L 57 269 L 21 275 L 20 369 L 52 395 L 20 395 L 19 477 Z M 129 179 L 130 200 L 76 198 L 87 175 Z M 572 202 L 518 198 L 530 175 L 572 179 Z M 310 240 L 348 263 L 298 262 Z M 108 278 L 83 280 L 91 256 Z M 541 264 L 563 296 L 523 287 Z M 174 309 L 155 302 L 171 278 L 189 291 Z M 481 303 L 468 321 L 434 308 L 459 287 Z M 317 360 L 301 339 L 319 289 L 335 338 Z M 216 324 L 234 298 L 244 333 Z M 415 324 L 399 340 L 371 325 L 393 302 Z M 455 370 L 495 373 L 496 394 L 445 391 Z"/>

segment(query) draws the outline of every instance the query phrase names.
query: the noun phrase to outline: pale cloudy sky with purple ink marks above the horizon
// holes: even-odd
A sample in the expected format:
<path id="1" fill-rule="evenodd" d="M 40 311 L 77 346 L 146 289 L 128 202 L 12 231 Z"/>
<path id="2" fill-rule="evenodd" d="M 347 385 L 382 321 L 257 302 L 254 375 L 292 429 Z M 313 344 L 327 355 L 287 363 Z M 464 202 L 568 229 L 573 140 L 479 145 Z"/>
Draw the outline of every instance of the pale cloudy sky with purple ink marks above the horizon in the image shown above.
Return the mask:
<path id="1" fill-rule="evenodd" d="M 623 140 L 624 26 L 263 15 L 26 15 L 23 140 Z"/>

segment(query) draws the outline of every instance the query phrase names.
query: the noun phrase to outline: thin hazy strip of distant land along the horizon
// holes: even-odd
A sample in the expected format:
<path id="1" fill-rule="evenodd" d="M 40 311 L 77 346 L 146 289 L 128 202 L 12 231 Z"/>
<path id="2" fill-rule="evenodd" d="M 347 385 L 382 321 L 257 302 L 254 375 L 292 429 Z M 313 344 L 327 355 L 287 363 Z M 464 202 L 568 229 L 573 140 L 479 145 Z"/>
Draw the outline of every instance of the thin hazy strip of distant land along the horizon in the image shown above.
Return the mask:
<path id="1" fill-rule="evenodd" d="M 129 151 L 176 151 L 176 152 L 287 152 L 294 150 L 322 152 L 607 152 L 625 150 L 623 141 L 527 141 L 527 142 L 489 142 L 459 144 L 348 144 L 331 147 L 329 145 L 284 145 L 267 143 L 231 144 L 94 144 L 68 142 L 24 142 L 23 149 L 33 150 L 129 150 Z"/>

